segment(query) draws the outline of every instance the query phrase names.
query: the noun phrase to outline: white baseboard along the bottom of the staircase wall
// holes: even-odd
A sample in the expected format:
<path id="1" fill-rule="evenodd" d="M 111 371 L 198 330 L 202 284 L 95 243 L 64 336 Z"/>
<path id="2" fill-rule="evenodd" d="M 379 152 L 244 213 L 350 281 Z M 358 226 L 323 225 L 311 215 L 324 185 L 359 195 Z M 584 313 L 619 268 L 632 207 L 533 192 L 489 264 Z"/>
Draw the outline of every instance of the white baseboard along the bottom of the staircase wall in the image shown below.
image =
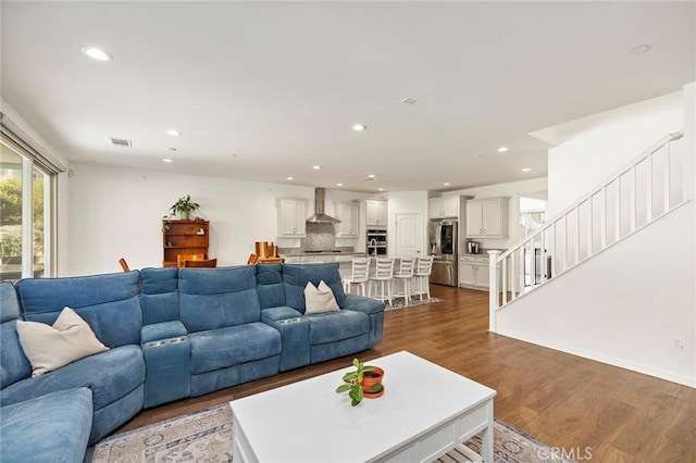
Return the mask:
<path id="1" fill-rule="evenodd" d="M 688 376 L 675 375 L 670 372 L 663 372 L 660 370 L 655 370 L 647 367 L 645 365 L 641 365 L 634 362 L 629 362 L 623 359 L 612 358 L 610 355 L 606 355 L 599 352 L 593 352 L 584 349 L 577 349 L 574 347 L 566 346 L 562 342 L 548 342 L 545 339 L 538 339 L 534 336 L 530 336 L 527 334 L 514 333 L 514 331 L 496 331 L 497 335 L 507 336 L 509 338 L 518 339 L 521 341 L 530 342 L 533 345 L 542 346 L 548 349 L 558 350 L 560 352 L 570 353 L 572 355 L 582 356 L 584 359 L 594 360 L 596 362 L 606 363 L 608 365 L 618 366 L 620 368 L 630 370 L 632 372 L 641 373 L 648 376 L 654 376 L 656 378 L 664 379 L 668 381 L 676 383 L 682 386 L 688 386 L 692 388 L 696 388 L 696 377 L 689 378 Z"/>

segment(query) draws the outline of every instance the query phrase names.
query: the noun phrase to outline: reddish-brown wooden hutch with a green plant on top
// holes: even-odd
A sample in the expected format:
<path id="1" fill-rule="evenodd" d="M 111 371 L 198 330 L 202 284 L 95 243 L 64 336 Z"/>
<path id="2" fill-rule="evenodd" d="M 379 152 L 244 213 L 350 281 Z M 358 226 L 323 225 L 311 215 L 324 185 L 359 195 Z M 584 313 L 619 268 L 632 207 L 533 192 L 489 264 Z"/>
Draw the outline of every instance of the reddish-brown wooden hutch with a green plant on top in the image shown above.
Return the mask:
<path id="1" fill-rule="evenodd" d="M 178 254 L 204 254 L 208 258 L 208 221 L 162 221 L 162 266 L 175 267 Z"/>

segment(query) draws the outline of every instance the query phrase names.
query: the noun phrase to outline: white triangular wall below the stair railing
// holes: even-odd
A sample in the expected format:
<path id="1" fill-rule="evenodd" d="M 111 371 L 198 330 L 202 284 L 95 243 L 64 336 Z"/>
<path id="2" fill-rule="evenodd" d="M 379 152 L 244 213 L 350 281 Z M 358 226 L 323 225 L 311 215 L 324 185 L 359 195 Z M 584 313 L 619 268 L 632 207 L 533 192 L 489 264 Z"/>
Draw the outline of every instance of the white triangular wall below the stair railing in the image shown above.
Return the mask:
<path id="1" fill-rule="evenodd" d="M 696 387 L 694 216 L 685 204 L 499 310 L 497 333 Z"/>

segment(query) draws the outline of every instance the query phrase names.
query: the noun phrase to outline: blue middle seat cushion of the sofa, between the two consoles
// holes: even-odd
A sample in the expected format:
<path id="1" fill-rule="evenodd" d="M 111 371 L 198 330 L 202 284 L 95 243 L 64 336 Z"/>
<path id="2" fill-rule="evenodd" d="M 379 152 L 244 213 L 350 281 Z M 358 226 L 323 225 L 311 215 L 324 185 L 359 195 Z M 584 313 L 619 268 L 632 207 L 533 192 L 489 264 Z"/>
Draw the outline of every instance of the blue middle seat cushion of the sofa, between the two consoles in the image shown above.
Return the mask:
<path id="1" fill-rule="evenodd" d="M 281 334 L 263 323 L 194 333 L 189 340 L 195 375 L 281 353 Z"/>

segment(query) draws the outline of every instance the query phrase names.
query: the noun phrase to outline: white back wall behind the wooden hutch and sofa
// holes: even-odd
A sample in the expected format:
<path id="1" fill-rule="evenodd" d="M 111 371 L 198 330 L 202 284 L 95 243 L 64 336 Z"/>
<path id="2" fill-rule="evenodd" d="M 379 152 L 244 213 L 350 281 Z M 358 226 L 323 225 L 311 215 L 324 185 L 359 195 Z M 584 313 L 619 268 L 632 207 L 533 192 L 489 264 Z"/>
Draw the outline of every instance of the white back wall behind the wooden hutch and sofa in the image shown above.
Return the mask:
<path id="1" fill-rule="evenodd" d="M 254 251 L 254 241 L 278 242 L 276 198 L 304 198 L 308 215 L 314 209 L 311 187 L 88 163 L 73 163 L 72 168 L 71 252 L 62 276 L 116 272 L 122 256 L 132 268 L 161 266 L 161 220 L 184 195 L 201 204 L 194 215 L 210 221 L 209 254 L 220 266 L 245 264 Z M 331 215 L 334 201 L 364 196 L 326 190 L 325 211 Z M 278 245 L 299 246 L 299 240 Z"/>

